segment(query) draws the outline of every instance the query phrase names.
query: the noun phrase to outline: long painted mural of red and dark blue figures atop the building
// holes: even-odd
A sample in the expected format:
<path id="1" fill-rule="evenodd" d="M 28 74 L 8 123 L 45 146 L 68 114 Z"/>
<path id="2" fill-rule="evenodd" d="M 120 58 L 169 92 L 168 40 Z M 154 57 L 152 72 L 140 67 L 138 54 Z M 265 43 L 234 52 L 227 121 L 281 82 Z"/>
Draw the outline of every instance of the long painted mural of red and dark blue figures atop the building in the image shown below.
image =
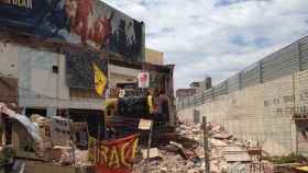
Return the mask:
<path id="1" fill-rule="evenodd" d="M 0 0 L 0 26 L 141 60 L 141 22 L 99 0 Z"/>

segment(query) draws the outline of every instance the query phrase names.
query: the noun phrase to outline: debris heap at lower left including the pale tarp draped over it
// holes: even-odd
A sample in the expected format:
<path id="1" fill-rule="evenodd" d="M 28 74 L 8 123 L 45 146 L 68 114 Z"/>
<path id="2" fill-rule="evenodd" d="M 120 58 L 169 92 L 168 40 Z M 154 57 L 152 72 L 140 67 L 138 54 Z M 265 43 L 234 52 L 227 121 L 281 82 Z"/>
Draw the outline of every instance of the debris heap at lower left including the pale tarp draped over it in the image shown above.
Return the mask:
<path id="1" fill-rule="evenodd" d="M 35 160 L 37 163 L 42 161 L 42 163 L 54 163 L 55 165 L 75 164 L 80 168 L 92 165 L 88 161 L 88 151 L 77 149 L 70 140 L 73 135 L 70 119 L 57 116 L 47 118 L 41 115 L 32 115 L 31 118 L 28 118 L 8 108 L 3 103 L 0 103 L 0 116 L 7 115 L 23 123 L 14 122 L 12 145 L 0 146 L 0 165 L 3 161 L 11 160 L 12 157 L 18 157 L 21 162 Z M 12 155 L 8 155 L 8 149 L 13 150 Z"/>

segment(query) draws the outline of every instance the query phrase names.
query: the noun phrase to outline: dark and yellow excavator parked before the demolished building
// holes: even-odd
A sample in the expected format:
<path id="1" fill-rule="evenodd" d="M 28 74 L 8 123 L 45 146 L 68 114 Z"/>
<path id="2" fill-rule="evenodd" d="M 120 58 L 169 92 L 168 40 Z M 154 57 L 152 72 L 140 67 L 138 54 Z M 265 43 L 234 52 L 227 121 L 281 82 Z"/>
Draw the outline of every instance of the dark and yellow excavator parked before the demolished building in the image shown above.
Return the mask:
<path id="1" fill-rule="evenodd" d="M 154 130 L 173 131 L 177 125 L 174 105 L 174 66 L 147 67 L 150 88 L 140 89 L 136 83 L 121 84 L 116 94 L 103 104 L 106 130 L 109 138 L 138 130 L 140 119 L 154 122 Z"/>

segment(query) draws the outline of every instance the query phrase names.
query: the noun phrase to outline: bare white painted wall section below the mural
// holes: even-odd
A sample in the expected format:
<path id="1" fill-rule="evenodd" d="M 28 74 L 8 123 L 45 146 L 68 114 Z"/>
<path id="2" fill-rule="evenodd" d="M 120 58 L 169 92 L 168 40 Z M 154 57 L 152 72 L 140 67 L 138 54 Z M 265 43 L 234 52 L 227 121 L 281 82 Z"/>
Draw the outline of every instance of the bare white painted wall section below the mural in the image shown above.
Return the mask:
<path id="1" fill-rule="evenodd" d="M 46 107 L 50 116 L 57 108 L 101 109 L 103 100 L 69 97 L 65 67 L 64 55 L 0 43 L 0 74 L 19 79 L 21 106 Z"/>

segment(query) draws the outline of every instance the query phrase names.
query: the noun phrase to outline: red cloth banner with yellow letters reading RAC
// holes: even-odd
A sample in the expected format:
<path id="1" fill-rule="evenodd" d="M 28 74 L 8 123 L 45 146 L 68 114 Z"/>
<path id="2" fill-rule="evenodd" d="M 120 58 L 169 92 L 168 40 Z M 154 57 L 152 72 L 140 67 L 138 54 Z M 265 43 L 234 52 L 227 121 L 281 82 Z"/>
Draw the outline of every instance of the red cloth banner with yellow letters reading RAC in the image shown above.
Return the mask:
<path id="1" fill-rule="evenodd" d="M 131 173 L 138 148 L 138 136 L 100 145 L 97 173 Z"/>

